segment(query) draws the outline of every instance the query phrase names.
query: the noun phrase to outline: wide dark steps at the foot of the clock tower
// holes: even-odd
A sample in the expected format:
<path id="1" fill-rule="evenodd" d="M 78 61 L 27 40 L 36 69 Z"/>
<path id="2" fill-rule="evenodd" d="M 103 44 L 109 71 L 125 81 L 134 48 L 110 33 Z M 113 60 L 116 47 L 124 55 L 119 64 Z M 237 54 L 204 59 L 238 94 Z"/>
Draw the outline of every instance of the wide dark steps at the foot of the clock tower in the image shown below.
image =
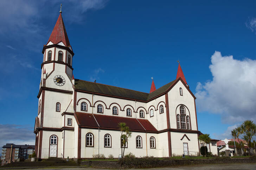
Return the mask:
<path id="1" fill-rule="evenodd" d="M 0 166 L 0 169 L 13 168 L 13 167 L 27 167 L 27 168 L 43 168 L 43 167 L 57 167 L 57 166 L 77 166 L 77 163 L 74 161 L 66 161 L 62 158 L 48 158 L 40 162 L 31 162 L 31 159 L 26 159 L 24 162 L 12 162 Z"/>

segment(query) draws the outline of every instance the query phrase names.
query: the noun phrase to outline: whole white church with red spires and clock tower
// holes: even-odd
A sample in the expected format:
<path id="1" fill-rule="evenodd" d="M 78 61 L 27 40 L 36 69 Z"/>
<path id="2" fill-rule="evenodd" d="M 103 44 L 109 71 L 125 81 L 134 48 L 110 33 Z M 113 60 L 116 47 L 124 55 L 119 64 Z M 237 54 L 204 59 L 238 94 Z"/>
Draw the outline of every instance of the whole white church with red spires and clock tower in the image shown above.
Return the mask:
<path id="1" fill-rule="evenodd" d="M 61 11 L 42 53 L 34 126 L 38 158 L 117 158 L 122 148 L 136 157 L 199 152 L 196 97 L 180 63 L 176 77 L 158 89 L 152 81 L 150 93 L 75 79 Z M 125 144 L 120 122 L 132 132 Z"/>

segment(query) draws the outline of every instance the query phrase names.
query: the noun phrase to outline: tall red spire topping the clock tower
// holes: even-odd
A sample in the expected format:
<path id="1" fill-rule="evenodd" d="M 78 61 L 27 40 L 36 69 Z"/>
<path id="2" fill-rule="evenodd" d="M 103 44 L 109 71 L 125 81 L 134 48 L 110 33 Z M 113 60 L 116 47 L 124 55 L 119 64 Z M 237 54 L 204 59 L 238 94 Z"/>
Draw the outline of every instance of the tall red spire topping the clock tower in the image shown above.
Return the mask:
<path id="1" fill-rule="evenodd" d="M 59 18 L 52 30 L 51 36 L 48 40 L 47 43 L 52 42 L 53 44 L 57 44 L 60 41 L 62 41 L 64 43 L 65 46 L 69 47 L 70 43 L 69 43 L 69 38 L 64 26 L 64 22 L 62 20 L 62 16 L 61 16 L 61 12 L 59 14 Z"/>

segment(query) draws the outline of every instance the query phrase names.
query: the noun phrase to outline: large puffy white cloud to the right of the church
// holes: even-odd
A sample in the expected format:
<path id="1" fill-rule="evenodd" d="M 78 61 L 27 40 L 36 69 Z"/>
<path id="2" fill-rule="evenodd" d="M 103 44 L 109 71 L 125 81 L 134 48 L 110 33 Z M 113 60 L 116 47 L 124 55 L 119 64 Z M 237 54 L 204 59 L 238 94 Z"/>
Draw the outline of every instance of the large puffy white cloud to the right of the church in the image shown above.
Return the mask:
<path id="1" fill-rule="evenodd" d="M 256 60 L 240 61 L 216 51 L 211 63 L 212 80 L 196 87 L 199 112 L 222 114 L 225 123 L 256 121 Z"/>

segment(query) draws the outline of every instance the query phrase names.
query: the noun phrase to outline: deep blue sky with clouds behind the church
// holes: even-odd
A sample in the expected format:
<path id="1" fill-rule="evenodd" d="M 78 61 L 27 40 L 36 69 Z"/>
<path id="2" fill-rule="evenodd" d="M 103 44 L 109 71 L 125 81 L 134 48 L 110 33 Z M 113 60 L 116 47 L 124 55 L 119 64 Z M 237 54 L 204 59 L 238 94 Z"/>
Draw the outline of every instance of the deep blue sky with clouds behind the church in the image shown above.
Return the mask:
<path id="1" fill-rule="evenodd" d="M 34 142 L 41 51 L 60 3 L 75 78 L 149 93 L 151 77 L 156 88 L 176 78 L 179 60 L 201 132 L 229 138 L 256 122 L 255 1 L 2 0 L 0 145 Z"/>

